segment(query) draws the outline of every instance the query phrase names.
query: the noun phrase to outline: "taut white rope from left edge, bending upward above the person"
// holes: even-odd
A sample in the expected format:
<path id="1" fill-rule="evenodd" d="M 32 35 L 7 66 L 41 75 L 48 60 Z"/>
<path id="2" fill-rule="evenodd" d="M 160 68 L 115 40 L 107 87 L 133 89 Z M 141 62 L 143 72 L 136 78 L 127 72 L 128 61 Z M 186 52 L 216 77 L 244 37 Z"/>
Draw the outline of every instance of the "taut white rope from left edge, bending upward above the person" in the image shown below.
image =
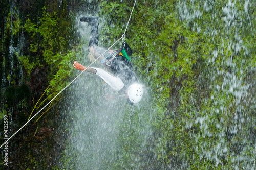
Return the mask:
<path id="1" fill-rule="evenodd" d="M 135 0 L 135 3 L 136 3 L 137 0 Z M 134 3 L 134 6 L 135 6 L 135 3 Z M 134 6 L 133 6 L 133 9 L 134 9 Z M 130 18 L 132 16 L 132 13 L 133 13 L 133 10 L 131 12 L 131 15 L 130 15 Z M 130 21 L 130 18 L 129 18 L 129 21 Z M 127 29 L 127 26 L 129 25 L 129 21 L 127 22 L 127 25 L 126 25 L 126 29 Z M 43 108 L 41 108 L 32 118 L 30 118 L 28 120 L 28 122 L 26 124 L 24 124 L 21 128 L 19 128 L 11 137 L 9 137 L 1 146 L 0 148 L 3 147 L 3 145 L 5 143 L 7 143 L 14 135 L 16 135 L 20 130 L 22 130 L 22 128 L 24 128 L 29 122 L 30 120 L 32 120 L 39 112 L 42 111 L 42 109 L 44 109 L 46 106 L 48 106 L 55 98 L 57 98 L 57 96 L 62 93 L 62 91 L 64 91 L 67 87 L 69 87 L 69 85 L 71 85 L 84 71 L 86 71 L 91 65 L 93 65 L 101 56 L 103 56 L 106 52 L 108 52 L 110 50 L 110 48 L 112 48 L 118 41 L 120 41 L 121 39 L 123 39 L 124 41 L 124 37 L 125 37 L 125 32 L 126 32 L 126 29 L 124 31 L 124 36 L 122 36 L 121 38 L 119 38 L 113 45 L 111 45 L 108 50 L 106 50 L 104 53 L 102 53 L 95 61 L 93 61 L 88 67 L 86 67 L 86 69 L 84 69 L 74 80 L 72 80 L 66 87 L 64 87 L 57 95 L 54 96 L 54 98 L 48 102 Z"/>

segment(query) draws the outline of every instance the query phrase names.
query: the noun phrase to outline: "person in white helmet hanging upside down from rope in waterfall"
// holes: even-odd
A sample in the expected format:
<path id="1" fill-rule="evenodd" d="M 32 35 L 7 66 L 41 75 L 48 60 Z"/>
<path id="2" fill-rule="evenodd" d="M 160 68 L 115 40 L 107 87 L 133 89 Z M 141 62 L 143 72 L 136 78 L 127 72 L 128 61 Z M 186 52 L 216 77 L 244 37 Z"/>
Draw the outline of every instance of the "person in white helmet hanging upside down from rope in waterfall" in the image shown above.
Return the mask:
<path id="1" fill-rule="evenodd" d="M 98 17 L 84 16 L 80 18 L 81 22 L 87 22 L 91 26 L 91 38 L 89 41 L 89 59 L 95 61 L 100 59 L 106 70 L 95 67 L 85 67 L 74 61 L 73 67 L 78 70 L 86 70 L 92 72 L 102 78 L 112 89 L 119 94 L 126 96 L 130 104 L 138 103 L 142 99 L 143 87 L 139 84 L 136 74 L 132 68 L 131 59 L 128 55 L 132 55 L 130 46 L 123 42 L 120 49 L 111 50 L 108 55 L 99 55 L 100 48 L 98 47 Z M 110 72 L 111 73 L 110 73 Z"/>

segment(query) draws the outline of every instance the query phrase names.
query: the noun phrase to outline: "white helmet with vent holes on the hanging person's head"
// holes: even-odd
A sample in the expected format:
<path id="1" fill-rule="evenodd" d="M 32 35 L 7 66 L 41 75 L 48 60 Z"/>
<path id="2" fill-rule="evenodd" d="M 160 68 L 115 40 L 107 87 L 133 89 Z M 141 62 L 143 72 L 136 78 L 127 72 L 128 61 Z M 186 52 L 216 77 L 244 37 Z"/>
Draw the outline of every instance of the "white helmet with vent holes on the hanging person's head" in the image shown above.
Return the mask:
<path id="1" fill-rule="evenodd" d="M 138 103 L 142 98 L 142 94 L 143 88 L 140 84 L 135 83 L 128 87 L 127 95 L 131 102 Z"/>

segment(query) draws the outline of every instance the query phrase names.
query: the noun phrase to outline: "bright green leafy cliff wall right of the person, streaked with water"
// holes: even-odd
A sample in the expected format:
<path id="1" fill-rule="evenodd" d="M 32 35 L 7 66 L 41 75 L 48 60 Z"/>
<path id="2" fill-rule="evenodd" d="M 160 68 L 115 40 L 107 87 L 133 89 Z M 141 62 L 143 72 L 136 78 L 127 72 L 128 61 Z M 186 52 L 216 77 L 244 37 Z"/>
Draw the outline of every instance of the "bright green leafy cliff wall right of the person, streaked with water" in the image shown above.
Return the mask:
<path id="1" fill-rule="evenodd" d="M 136 71 L 154 96 L 155 135 L 150 142 L 156 145 L 147 152 L 156 159 L 143 166 L 129 162 L 145 150 L 139 144 L 124 151 L 126 157 L 118 169 L 129 169 L 132 162 L 137 168 L 152 169 L 254 166 L 255 138 L 250 126 L 255 122 L 255 90 L 247 90 L 255 78 L 255 20 L 250 19 L 255 16 L 255 4 L 249 3 L 248 9 L 245 4 L 137 2 L 126 41 L 134 48 Z M 110 18 L 106 33 L 117 39 L 132 3 L 102 1 L 100 6 L 102 15 Z M 124 141 L 136 143 L 140 136 L 120 137 Z"/>

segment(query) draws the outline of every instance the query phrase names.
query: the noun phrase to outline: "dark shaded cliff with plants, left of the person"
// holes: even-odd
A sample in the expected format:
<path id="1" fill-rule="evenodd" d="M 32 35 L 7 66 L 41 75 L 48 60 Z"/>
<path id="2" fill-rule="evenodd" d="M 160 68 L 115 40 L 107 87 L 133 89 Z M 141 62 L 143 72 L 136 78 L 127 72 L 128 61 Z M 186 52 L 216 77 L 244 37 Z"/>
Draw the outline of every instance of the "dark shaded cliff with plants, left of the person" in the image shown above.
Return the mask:
<path id="1" fill-rule="evenodd" d="M 70 10 L 79 5 L 73 2 L 72 6 L 69 1 L 1 3 L 0 129 L 4 130 L 2 118 L 7 115 L 10 137 L 49 102 L 49 96 L 54 93 L 51 90 L 48 94 L 44 92 L 50 84 L 49 80 L 63 68 L 62 65 L 67 68 L 65 62 L 70 61 L 67 53 L 72 49 L 76 34 L 71 31 L 72 22 L 68 15 Z M 59 75 L 59 79 L 67 78 L 63 72 Z M 61 139 L 56 132 L 59 111 L 52 109 L 52 106 L 54 104 L 35 117 L 8 143 L 10 169 L 54 166 L 53 162 L 63 148 L 57 144 Z M 44 119 L 40 118 L 42 114 Z M 1 142 L 4 142 L 2 138 Z"/>

